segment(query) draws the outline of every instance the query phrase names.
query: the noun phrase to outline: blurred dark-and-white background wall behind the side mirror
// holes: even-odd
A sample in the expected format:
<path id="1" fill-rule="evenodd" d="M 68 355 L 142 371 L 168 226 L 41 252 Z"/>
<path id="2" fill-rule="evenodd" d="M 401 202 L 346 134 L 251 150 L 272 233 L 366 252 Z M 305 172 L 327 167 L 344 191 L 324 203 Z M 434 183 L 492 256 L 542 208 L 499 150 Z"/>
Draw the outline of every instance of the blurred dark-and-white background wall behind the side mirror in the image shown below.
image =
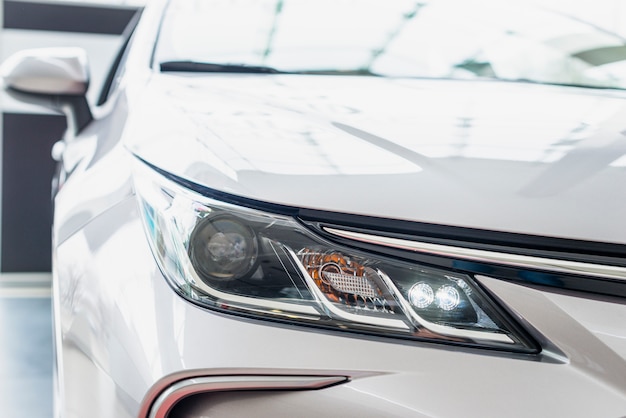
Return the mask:
<path id="1" fill-rule="evenodd" d="M 107 67 L 119 35 L 136 7 L 4 0 L 3 53 L 22 47 L 87 49 L 92 65 Z M 37 45 L 38 39 L 41 45 Z M 18 45 L 19 44 L 19 45 Z M 106 48 L 102 48 L 105 45 Z M 103 52 L 104 51 L 104 52 Z M 106 56 L 103 56 L 106 55 Z M 2 57 L 6 58 L 6 55 Z M 93 59 L 92 59 L 93 58 Z M 92 68 L 98 78 L 107 68 Z M 92 80 L 97 89 L 101 80 Z M 0 272 L 48 272 L 51 268 L 53 144 L 65 118 L 2 100 Z"/>

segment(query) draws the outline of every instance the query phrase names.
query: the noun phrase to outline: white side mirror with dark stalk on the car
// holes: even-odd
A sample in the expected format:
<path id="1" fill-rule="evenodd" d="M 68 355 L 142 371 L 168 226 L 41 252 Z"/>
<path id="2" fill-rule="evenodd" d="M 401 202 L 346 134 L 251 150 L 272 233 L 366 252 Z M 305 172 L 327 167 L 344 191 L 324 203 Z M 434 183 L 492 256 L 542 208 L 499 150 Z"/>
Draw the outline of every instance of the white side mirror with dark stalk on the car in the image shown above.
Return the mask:
<path id="1" fill-rule="evenodd" d="M 4 61 L 0 74 L 7 93 L 17 100 L 64 112 L 74 134 L 93 119 L 85 96 L 87 54 L 81 48 L 20 51 Z"/>

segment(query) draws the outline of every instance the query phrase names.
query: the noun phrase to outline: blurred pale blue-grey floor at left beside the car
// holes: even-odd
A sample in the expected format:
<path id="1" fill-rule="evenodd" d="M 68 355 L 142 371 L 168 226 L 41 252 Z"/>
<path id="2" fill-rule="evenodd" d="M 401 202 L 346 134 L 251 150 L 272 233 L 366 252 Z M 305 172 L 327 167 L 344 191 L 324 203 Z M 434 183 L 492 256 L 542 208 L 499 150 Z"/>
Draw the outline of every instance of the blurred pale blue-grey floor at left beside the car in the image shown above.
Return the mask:
<path id="1" fill-rule="evenodd" d="M 52 417 L 50 277 L 0 275 L 0 416 Z"/>

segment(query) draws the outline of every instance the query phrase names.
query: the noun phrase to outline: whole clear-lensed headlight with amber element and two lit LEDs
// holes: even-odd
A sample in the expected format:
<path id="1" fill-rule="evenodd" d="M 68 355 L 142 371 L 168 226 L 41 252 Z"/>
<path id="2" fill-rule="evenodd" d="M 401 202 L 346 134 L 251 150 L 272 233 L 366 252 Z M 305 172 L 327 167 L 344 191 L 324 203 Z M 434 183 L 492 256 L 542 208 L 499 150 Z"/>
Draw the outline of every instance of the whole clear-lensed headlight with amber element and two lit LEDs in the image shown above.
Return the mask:
<path id="1" fill-rule="evenodd" d="M 137 164 L 155 258 L 195 303 L 385 337 L 537 351 L 470 275 L 343 248 L 290 216 L 224 203 L 172 179 Z"/>

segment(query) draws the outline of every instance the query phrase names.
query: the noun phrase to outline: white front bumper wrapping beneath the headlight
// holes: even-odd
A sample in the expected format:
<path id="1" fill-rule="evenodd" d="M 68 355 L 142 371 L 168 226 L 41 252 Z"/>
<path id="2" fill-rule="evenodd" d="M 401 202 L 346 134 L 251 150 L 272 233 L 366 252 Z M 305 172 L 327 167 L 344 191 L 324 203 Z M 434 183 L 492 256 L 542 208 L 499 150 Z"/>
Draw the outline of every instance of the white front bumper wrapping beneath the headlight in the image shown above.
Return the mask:
<path id="1" fill-rule="evenodd" d="M 233 376 L 340 380 L 323 388 L 193 391 L 170 405 L 172 415 L 626 415 L 623 301 L 482 278 L 526 321 L 544 348 L 538 355 L 231 317 L 168 286 L 133 197 L 59 245 L 55 270 L 59 402 L 67 417 L 149 416 L 177 383 Z"/>

